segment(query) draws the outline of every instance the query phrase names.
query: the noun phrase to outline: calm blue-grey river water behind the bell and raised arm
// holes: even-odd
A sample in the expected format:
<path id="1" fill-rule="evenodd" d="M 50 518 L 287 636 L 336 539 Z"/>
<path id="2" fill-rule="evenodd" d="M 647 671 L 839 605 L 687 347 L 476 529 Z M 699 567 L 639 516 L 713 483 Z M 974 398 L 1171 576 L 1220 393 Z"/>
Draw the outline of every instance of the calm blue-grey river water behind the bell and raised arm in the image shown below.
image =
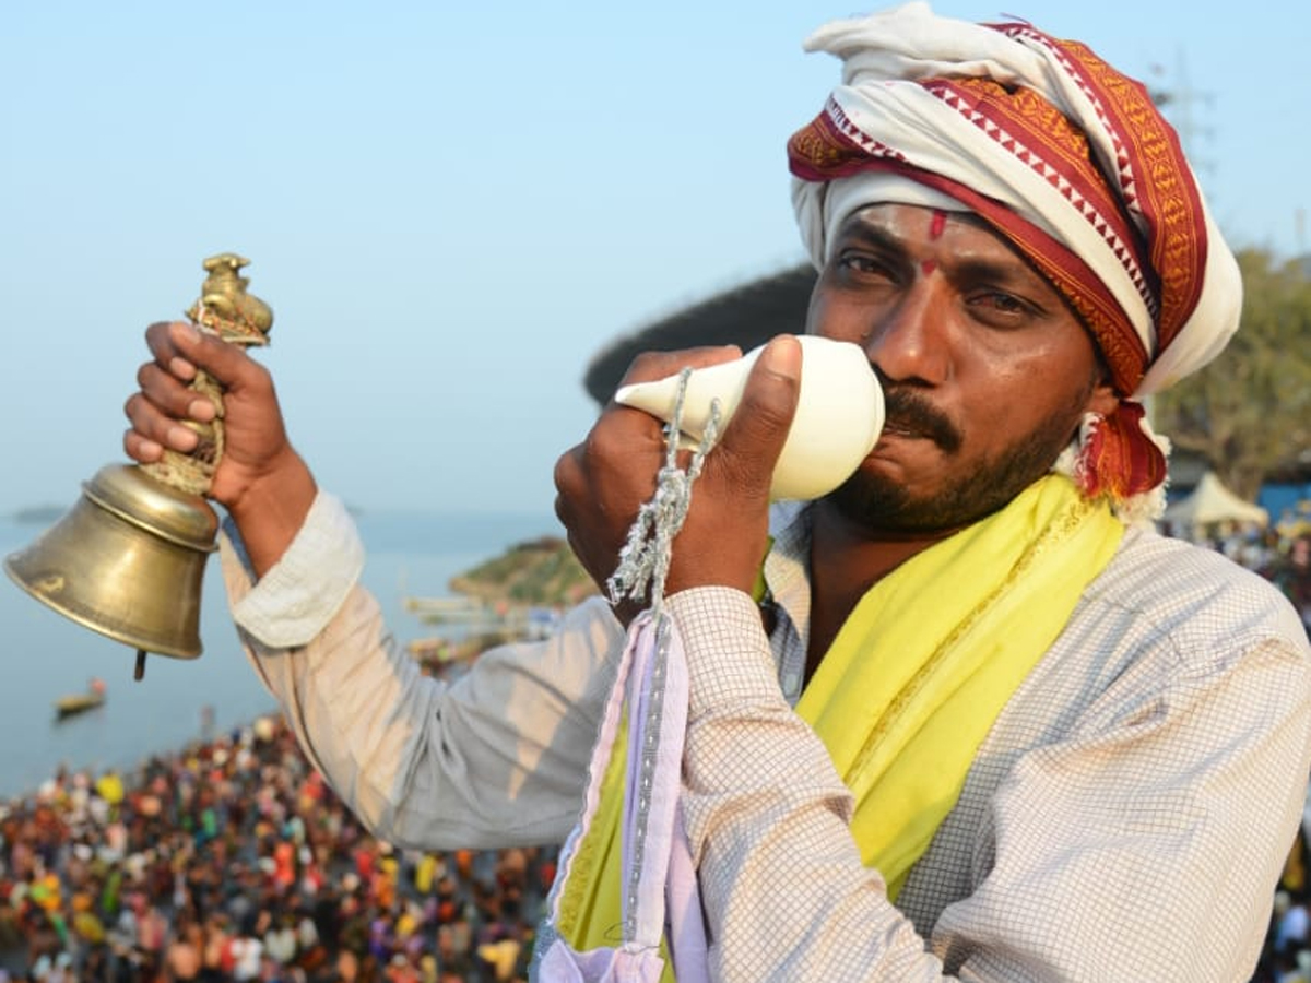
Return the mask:
<path id="1" fill-rule="evenodd" d="M 560 533 L 555 518 L 518 514 L 364 512 L 359 527 L 368 548 L 364 585 L 401 642 L 433 633 L 404 611 L 406 594 L 448 595 L 455 574 L 515 543 Z M 25 548 L 42 528 L 0 519 L 0 554 Z M 201 737 L 207 713 L 227 730 L 275 709 L 237 645 L 216 558 L 205 575 L 201 640 L 201 658 L 149 657 L 144 679 L 134 682 L 134 650 L 0 575 L 0 797 L 37 789 L 60 765 L 131 768 Z M 93 676 L 108 685 L 105 704 L 56 722 L 54 701 Z"/>

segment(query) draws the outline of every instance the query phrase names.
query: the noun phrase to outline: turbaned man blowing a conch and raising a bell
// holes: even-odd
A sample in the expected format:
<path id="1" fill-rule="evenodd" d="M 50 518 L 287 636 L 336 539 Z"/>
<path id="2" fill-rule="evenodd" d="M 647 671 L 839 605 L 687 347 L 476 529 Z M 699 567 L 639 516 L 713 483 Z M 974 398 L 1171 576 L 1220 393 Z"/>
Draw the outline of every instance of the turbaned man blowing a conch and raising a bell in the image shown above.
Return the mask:
<path id="1" fill-rule="evenodd" d="M 1234 260 L 1146 92 L 1087 48 L 923 5 L 812 46 L 844 84 L 789 144 L 806 329 L 864 346 L 888 426 L 838 492 L 771 509 L 800 370 L 775 339 L 674 543 L 712 976 L 1244 979 L 1311 767 L 1311 661 L 1269 585 L 1133 522 L 1165 460 L 1130 398 L 1223 346 Z M 422 679 L 265 370 L 185 325 L 148 337 L 126 450 L 193 447 L 197 366 L 228 387 L 235 617 L 337 792 L 406 845 L 562 839 L 633 612 L 593 600 Z M 610 406 L 557 465 L 598 582 L 663 448 Z M 614 925 L 598 898 L 578 948 Z"/>

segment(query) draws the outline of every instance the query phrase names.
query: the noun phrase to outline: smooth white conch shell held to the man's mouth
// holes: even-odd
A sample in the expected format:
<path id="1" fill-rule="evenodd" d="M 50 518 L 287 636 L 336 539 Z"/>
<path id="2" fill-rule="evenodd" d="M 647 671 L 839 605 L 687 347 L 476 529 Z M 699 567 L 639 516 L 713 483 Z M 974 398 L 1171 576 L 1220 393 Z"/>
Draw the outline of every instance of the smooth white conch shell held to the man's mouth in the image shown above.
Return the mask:
<path id="1" fill-rule="evenodd" d="M 884 429 L 884 391 L 864 349 L 847 341 L 798 336 L 801 393 L 792 429 L 773 471 L 770 497 L 812 499 L 832 492 L 860 467 Z M 742 358 L 694 368 L 683 397 L 684 444 L 700 439 L 718 398 L 724 423 L 733 415 L 762 345 Z M 646 410 L 666 423 L 678 400 L 678 375 L 620 387 L 615 401 Z"/>

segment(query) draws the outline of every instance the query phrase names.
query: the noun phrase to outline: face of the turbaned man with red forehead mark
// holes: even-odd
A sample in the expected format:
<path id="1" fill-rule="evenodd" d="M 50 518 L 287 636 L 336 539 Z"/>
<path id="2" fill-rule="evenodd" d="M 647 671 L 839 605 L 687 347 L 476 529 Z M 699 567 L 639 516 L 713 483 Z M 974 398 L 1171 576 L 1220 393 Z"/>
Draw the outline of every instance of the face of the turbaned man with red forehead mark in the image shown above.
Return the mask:
<path id="1" fill-rule="evenodd" d="M 1086 410 L 1116 405 L 1061 295 L 968 212 L 857 211 L 808 330 L 864 346 L 885 388 L 882 435 L 831 495 L 872 530 L 943 531 L 998 510 L 1046 473 Z"/>

